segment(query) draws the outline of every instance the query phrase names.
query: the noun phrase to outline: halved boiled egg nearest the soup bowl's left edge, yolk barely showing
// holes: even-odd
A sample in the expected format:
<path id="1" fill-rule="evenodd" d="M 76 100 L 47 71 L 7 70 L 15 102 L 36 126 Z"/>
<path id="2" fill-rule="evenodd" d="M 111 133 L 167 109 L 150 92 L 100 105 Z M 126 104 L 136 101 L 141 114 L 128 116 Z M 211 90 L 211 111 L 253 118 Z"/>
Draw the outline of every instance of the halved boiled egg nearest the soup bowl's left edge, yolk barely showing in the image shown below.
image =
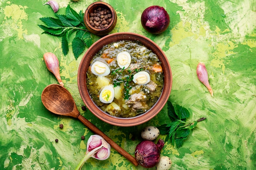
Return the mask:
<path id="1" fill-rule="evenodd" d="M 94 75 L 106 76 L 106 75 L 109 75 L 110 68 L 107 64 L 100 61 L 96 61 L 92 63 L 91 71 Z"/>

